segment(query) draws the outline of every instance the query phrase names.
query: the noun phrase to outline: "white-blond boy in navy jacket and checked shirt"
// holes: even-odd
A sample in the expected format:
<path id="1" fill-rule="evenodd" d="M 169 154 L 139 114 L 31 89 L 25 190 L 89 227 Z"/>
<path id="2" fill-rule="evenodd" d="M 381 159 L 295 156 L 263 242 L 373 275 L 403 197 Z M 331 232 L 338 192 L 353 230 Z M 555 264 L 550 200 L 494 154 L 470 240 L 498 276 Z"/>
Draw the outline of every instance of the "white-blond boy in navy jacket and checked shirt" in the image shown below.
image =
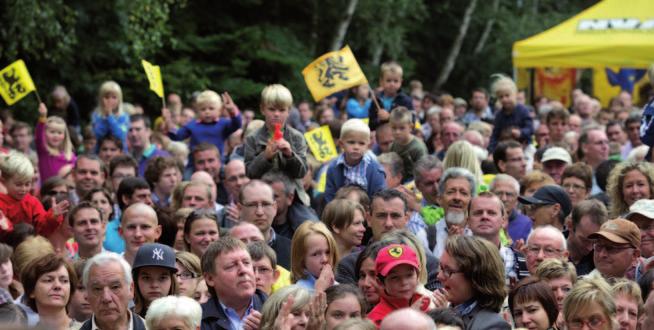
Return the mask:
<path id="1" fill-rule="evenodd" d="M 360 119 L 350 119 L 341 127 L 338 145 L 343 150 L 327 169 L 325 202 L 329 203 L 343 186 L 357 185 L 370 198 L 386 188 L 384 168 L 368 153 L 370 128 Z"/>

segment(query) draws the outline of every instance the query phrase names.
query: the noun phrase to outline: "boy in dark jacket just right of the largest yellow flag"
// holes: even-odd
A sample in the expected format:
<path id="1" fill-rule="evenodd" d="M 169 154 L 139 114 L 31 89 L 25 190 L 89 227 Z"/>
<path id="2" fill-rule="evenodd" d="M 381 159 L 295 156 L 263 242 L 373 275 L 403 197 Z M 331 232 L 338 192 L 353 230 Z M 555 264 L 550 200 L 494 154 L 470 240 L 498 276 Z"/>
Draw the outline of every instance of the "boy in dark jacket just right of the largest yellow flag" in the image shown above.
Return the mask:
<path id="1" fill-rule="evenodd" d="M 379 105 L 383 109 L 370 109 L 368 112 L 370 129 L 388 122 L 389 112 L 396 107 L 406 107 L 413 110 L 413 100 L 402 92 L 402 67 L 396 62 L 386 62 L 381 66 L 379 86 L 382 91 L 376 95 Z"/>

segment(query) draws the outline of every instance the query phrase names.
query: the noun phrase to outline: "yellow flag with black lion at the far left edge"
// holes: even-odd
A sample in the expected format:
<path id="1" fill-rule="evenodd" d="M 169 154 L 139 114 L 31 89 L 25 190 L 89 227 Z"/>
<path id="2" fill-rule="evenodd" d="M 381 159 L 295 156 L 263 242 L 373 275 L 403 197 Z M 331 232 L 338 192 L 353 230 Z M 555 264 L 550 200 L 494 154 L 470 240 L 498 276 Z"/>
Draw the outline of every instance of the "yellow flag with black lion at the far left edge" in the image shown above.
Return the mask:
<path id="1" fill-rule="evenodd" d="M 7 105 L 18 102 L 33 90 L 36 87 L 23 60 L 17 60 L 0 71 L 0 95 Z"/>

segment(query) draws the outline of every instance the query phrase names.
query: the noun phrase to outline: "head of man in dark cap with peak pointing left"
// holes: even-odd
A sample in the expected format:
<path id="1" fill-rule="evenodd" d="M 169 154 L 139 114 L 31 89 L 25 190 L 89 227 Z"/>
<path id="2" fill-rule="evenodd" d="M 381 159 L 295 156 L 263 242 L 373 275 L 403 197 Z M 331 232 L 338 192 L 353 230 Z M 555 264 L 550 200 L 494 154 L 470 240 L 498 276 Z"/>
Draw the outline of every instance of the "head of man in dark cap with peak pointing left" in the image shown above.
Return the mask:
<path id="1" fill-rule="evenodd" d="M 563 230 L 565 218 L 572 210 L 568 194 L 556 185 L 546 185 L 531 196 L 518 197 L 520 203 L 530 205 L 529 217 L 534 221 L 533 228 L 550 225 Z"/>

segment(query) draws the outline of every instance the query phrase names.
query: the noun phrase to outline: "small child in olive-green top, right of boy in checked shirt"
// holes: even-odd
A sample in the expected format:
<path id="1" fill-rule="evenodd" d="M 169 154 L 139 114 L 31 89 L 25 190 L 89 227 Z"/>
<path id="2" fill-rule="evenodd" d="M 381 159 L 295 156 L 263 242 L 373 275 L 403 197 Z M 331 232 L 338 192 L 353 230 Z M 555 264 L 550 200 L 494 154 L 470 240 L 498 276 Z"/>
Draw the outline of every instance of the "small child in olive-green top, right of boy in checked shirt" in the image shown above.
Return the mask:
<path id="1" fill-rule="evenodd" d="M 407 108 L 397 107 L 393 109 L 390 122 L 393 131 L 391 152 L 396 152 L 402 158 L 404 163 L 402 177 L 404 182 L 408 182 L 413 179 L 414 164 L 427 155 L 427 146 L 412 134 L 413 114 Z"/>

